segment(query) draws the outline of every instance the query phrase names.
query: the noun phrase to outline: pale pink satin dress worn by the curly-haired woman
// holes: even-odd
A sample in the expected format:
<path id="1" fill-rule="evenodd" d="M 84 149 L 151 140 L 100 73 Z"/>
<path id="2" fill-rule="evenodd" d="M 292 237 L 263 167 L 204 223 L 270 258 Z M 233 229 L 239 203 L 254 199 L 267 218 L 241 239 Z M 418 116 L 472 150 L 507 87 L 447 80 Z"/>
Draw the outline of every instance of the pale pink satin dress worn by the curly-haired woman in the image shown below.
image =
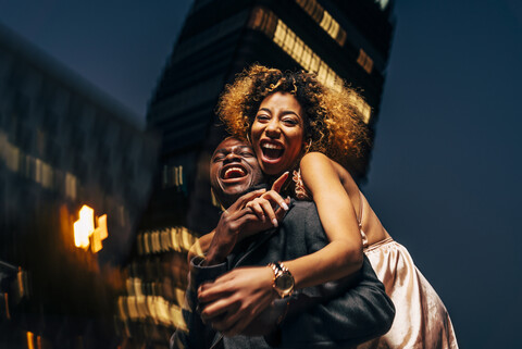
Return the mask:
<path id="1" fill-rule="evenodd" d="M 300 173 L 294 172 L 293 179 L 298 199 L 309 200 L 311 196 L 302 184 Z M 368 245 L 362 229 L 365 200 L 359 194 L 361 207 L 358 224 L 363 251 L 395 304 L 395 319 L 388 333 L 359 345 L 357 349 L 458 349 L 446 307 L 417 269 L 408 250 L 391 237 Z"/>

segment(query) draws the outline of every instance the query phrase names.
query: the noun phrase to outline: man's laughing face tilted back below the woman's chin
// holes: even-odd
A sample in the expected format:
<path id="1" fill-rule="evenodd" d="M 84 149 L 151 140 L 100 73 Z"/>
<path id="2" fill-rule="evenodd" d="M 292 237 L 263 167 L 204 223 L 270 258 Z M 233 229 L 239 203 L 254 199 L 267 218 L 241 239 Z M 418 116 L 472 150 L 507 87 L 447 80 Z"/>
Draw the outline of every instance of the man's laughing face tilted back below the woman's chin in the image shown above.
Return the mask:
<path id="1" fill-rule="evenodd" d="M 226 138 L 217 146 L 210 161 L 210 184 L 225 208 L 262 180 L 263 173 L 248 144 Z"/>

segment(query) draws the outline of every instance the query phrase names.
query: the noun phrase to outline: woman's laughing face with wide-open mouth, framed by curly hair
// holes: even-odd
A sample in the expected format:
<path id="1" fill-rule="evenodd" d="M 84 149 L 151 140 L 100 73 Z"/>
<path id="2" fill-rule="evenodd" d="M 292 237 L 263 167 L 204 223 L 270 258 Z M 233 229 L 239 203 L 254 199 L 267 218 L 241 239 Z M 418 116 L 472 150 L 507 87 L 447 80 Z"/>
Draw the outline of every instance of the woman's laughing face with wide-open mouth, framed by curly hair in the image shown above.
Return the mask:
<path id="1" fill-rule="evenodd" d="M 304 146 L 304 114 L 294 95 L 269 95 L 259 107 L 250 136 L 265 174 L 290 170 Z"/>

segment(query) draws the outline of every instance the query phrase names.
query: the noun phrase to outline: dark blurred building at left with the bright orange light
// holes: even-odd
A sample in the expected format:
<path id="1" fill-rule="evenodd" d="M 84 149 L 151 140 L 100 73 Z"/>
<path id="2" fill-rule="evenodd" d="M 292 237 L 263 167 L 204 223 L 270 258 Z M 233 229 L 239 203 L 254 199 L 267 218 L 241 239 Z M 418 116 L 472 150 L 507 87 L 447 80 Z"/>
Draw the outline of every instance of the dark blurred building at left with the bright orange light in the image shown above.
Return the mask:
<path id="1" fill-rule="evenodd" d="M 158 138 L 132 119 L 0 27 L 0 347 L 105 338 L 94 328 L 115 299 L 108 275 L 128 257 L 157 169 Z"/>

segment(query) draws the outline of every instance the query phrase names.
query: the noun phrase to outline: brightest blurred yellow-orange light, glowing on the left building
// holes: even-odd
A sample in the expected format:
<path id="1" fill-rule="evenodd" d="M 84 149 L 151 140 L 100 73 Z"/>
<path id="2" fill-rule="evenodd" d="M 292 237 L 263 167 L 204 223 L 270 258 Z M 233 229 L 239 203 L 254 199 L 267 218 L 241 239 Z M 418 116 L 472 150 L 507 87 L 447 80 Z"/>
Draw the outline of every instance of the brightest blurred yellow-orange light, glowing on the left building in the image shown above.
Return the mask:
<path id="1" fill-rule="evenodd" d="M 74 245 L 84 249 L 90 245 L 96 253 L 103 248 L 101 240 L 108 236 L 107 214 L 98 217 L 98 227 L 95 229 L 95 210 L 84 204 L 79 210 L 79 220 L 74 222 Z"/>

